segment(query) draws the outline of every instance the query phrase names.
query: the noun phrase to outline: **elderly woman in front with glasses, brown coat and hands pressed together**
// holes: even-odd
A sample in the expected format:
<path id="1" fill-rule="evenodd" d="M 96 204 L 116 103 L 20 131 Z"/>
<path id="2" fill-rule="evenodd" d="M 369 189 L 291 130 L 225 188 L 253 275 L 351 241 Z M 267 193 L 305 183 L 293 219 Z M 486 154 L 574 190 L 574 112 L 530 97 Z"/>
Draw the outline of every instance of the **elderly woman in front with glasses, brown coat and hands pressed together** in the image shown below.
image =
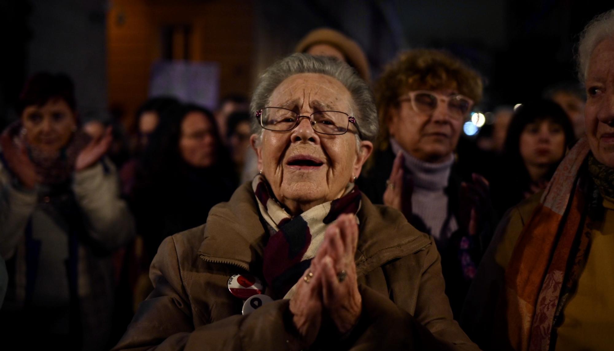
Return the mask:
<path id="1" fill-rule="evenodd" d="M 262 172 L 161 244 L 115 349 L 476 349 L 432 239 L 354 187 L 378 123 L 351 67 L 289 56 L 251 109 Z"/>

